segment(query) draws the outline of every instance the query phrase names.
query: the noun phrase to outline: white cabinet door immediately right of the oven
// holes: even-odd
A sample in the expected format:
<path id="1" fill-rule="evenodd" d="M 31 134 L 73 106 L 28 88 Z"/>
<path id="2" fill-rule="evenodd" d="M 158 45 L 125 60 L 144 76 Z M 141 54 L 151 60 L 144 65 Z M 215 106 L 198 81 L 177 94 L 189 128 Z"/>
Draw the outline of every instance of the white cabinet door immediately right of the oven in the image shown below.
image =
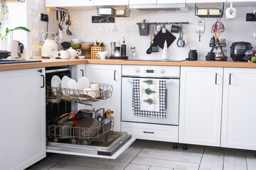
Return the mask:
<path id="1" fill-rule="evenodd" d="M 178 142 L 220 146 L 223 68 L 181 67 Z"/>

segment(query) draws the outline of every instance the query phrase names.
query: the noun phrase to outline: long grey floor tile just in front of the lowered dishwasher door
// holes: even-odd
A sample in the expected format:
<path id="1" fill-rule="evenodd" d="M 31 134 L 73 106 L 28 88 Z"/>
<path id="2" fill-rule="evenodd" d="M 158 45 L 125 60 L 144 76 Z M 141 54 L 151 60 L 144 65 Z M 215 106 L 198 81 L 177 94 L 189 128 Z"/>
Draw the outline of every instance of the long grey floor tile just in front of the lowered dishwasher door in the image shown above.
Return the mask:
<path id="1" fill-rule="evenodd" d="M 97 160 L 97 159 L 87 159 L 82 157 L 68 157 L 64 159 L 60 164 L 71 164 L 77 166 L 86 166 L 97 169 L 124 169 L 128 164 L 121 162 L 109 162 L 108 160 Z"/>

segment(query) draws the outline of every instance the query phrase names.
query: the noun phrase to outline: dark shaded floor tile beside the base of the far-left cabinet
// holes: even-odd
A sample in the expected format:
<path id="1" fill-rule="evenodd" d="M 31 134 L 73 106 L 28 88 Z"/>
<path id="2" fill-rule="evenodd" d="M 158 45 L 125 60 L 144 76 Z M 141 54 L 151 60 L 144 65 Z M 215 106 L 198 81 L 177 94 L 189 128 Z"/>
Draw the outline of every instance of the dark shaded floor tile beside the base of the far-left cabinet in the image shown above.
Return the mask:
<path id="1" fill-rule="evenodd" d="M 38 164 L 34 164 L 31 170 L 46 170 L 58 164 L 63 159 L 69 157 L 67 154 L 48 154 L 45 159 L 42 159 Z"/>

